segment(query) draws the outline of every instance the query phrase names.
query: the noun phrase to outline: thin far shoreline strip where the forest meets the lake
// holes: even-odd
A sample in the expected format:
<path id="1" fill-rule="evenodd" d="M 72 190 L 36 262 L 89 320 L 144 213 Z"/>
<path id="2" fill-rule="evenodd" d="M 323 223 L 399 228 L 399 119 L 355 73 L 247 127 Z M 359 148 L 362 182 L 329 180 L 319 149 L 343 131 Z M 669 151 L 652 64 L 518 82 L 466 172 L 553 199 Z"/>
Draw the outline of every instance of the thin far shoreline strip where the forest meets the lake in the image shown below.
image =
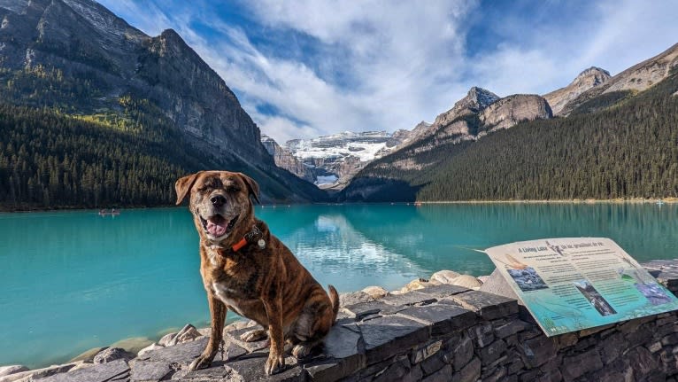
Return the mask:
<path id="1" fill-rule="evenodd" d="M 300 205 L 361 205 L 361 204 L 395 204 L 395 205 L 410 205 L 410 204 L 420 204 L 420 205 L 438 205 L 438 204 L 598 204 L 598 203 L 611 203 L 611 204 L 656 204 L 659 200 L 665 204 L 675 204 L 678 203 L 678 198 L 658 198 L 658 199 L 643 199 L 643 198 L 633 198 L 633 199 L 516 199 L 516 200 L 438 200 L 438 201 L 398 201 L 398 202 L 344 202 L 344 203 L 332 203 L 332 202 L 319 202 L 319 203 L 272 203 L 272 204 L 263 204 L 262 207 L 273 207 L 273 206 L 300 206 Z M 149 208 L 174 208 L 181 206 L 152 206 L 152 207 L 115 207 L 119 211 L 124 210 L 140 210 L 140 209 L 149 209 Z M 111 207 L 106 207 L 109 209 Z M 58 211 L 98 211 L 102 208 L 90 208 L 90 207 L 53 207 L 53 208 L 27 208 L 27 209 L 11 209 L 6 207 L 0 207 L 0 214 L 12 214 L 12 213 L 29 213 L 29 212 L 58 212 Z"/>

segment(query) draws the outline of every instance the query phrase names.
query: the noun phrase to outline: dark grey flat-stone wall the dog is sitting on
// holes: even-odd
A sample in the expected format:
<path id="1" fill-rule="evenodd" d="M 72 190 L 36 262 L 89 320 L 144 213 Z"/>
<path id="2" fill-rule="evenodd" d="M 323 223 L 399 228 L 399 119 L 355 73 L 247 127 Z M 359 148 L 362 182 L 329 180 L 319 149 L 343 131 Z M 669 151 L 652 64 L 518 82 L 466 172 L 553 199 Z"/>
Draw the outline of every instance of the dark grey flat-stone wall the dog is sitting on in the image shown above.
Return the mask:
<path id="1" fill-rule="evenodd" d="M 678 291 L 678 260 L 643 265 Z M 343 303 L 322 354 L 303 362 L 289 356 L 287 369 L 272 377 L 264 375 L 266 341 L 243 342 L 251 328 L 240 324 L 227 328 L 223 351 L 206 370 L 187 370 L 203 336 L 39 380 L 678 380 L 678 312 L 547 338 L 516 300 L 457 285 L 379 300 L 357 292 Z"/>

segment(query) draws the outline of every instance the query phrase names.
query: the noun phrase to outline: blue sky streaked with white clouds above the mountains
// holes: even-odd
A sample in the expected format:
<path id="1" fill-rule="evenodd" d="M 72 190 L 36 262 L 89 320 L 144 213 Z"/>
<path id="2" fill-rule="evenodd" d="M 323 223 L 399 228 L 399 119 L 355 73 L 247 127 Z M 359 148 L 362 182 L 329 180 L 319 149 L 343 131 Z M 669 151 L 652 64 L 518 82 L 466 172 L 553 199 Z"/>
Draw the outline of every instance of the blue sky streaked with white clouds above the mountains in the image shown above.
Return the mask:
<path id="1" fill-rule="evenodd" d="M 678 43 L 678 2 L 103 0 L 148 35 L 175 29 L 267 135 L 412 129 L 472 86 L 544 94 Z"/>

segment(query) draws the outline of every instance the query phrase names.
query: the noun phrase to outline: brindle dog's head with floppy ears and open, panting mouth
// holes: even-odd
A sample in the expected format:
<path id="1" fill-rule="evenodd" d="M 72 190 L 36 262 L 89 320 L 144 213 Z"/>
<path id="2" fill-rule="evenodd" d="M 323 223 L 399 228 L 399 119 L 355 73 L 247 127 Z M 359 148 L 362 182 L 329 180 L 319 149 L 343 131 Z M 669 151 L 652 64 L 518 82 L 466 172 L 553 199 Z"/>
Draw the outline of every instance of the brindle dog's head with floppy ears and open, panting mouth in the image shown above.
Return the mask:
<path id="1" fill-rule="evenodd" d="M 258 201 L 258 184 L 247 175 L 228 171 L 201 171 L 174 184 L 177 205 L 190 195 L 190 211 L 201 238 L 227 246 L 238 241 L 253 217 L 250 195 Z"/>

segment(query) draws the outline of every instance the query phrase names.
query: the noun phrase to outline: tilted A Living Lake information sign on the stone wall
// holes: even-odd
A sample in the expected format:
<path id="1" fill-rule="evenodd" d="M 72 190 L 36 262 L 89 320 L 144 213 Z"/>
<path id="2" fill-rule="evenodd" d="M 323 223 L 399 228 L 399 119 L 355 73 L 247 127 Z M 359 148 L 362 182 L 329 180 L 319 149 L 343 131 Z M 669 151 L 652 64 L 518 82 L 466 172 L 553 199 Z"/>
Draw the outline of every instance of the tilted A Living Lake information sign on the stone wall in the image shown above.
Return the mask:
<path id="1" fill-rule="evenodd" d="M 678 309 L 609 238 L 548 238 L 484 251 L 551 337 Z"/>

